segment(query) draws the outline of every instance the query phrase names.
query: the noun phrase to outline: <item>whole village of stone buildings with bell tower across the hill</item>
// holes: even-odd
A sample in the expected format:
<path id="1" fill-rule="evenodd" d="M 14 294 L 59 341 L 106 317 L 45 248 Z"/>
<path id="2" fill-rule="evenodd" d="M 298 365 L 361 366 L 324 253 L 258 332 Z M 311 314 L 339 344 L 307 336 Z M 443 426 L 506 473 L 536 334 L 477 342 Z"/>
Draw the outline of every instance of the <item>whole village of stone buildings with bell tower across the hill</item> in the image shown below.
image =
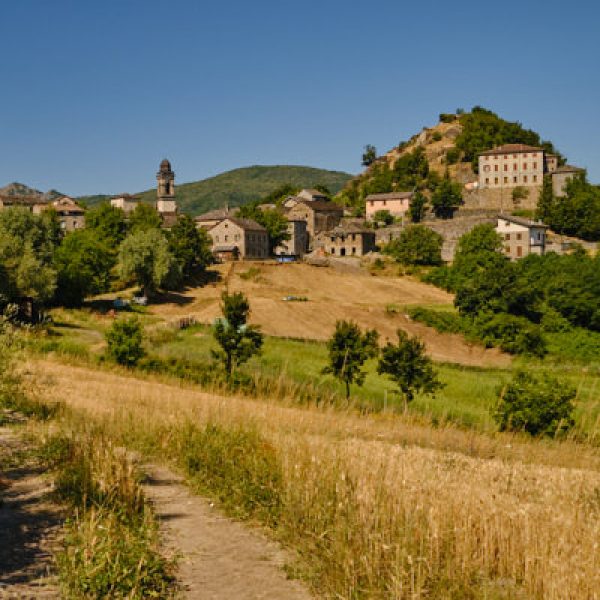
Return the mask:
<path id="1" fill-rule="evenodd" d="M 421 139 L 425 142 L 426 137 Z M 382 160 L 386 158 L 375 160 L 374 166 Z M 548 235 L 546 224 L 521 213 L 532 213 L 535 209 L 544 178 L 551 182 L 554 197 L 561 198 L 567 183 L 582 174 L 583 169 L 559 166 L 558 156 L 526 144 L 505 144 L 482 152 L 478 165 L 476 179 L 463 184 L 460 206 L 445 218 L 435 218 L 431 211 L 423 216 L 423 224 L 442 236 L 445 260 L 452 259 L 460 235 L 481 223 L 494 224 L 505 242 L 504 252 L 512 259 L 547 251 L 562 253 L 570 248 L 573 239 Z M 181 212 L 175 172 L 167 159 L 160 163 L 156 179 L 154 208 L 162 227 L 168 230 Z M 212 253 L 218 261 L 364 257 L 378 253 L 411 223 L 415 195 L 414 189 L 367 194 L 362 209 L 356 211 L 336 202 L 323 189 L 309 188 L 285 196 L 277 203 L 256 204 L 259 211 L 277 212 L 287 223 L 287 231 L 276 246 L 270 243 L 267 229 L 257 220 L 241 216 L 239 208 L 224 206 L 196 216 L 194 222 L 210 236 Z M 130 194 L 110 199 L 110 205 L 123 211 L 126 217 L 140 203 L 138 196 Z M 52 209 L 63 232 L 85 227 L 85 208 L 68 196 L 50 200 L 40 196 L 0 195 L 0 209 L 10 206 L 26 207 L 38 215 Z"/>

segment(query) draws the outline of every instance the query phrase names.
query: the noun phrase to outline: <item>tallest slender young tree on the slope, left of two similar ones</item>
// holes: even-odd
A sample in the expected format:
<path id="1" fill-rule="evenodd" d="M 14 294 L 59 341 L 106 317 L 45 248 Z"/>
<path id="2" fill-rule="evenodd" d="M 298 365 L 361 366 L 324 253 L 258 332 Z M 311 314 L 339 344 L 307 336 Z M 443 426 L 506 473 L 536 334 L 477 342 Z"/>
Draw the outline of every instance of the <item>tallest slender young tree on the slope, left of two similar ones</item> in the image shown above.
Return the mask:
<path id="1" fill-rule="evenodd" d="M 259 354 L 263 345 L 263 335 L 258 327 L 248 325 L 250 303 L 241 292 L 221 295 L 223 318 L 217 320 L 213 335 L 220 346 L 212 355 L 220 360 L 228 377 L 234 369 Z"/>

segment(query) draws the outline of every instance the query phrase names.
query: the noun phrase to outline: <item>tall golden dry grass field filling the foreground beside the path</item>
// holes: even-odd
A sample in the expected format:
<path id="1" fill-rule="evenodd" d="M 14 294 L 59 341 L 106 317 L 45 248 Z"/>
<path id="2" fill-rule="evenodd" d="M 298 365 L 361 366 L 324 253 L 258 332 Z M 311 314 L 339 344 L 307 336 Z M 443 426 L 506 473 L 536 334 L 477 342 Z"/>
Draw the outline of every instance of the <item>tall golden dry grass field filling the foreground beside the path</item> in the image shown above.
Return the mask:
<path id="1" fill-rule="evenodd" d="M 281 463 L 278 535 L 336 598 L 600 597 L 600 455 L 571 442 L 220 397 L 51 361 L 42 392 L 160 454 L 186 421 L 251 427 Z"/>

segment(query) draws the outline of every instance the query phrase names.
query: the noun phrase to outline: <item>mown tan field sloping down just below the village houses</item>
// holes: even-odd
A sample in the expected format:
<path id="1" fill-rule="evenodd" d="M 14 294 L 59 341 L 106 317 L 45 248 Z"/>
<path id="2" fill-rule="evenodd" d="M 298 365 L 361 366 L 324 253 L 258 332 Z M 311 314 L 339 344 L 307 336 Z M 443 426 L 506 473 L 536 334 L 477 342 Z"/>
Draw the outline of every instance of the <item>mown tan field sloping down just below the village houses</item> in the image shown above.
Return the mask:
<path id="1" fill-rule="evenodd" d="M 340 272 L 306 264 L 231 263 L 217 269 L 222 275 L 218 284 L 191 289 L 177 303 L 153 306 L 152 314 L 166 319 L 193 315 L 202 323 L 211 323 L 221 315 L 220 295 L 228 286 L 231 292 L 242 291 L 248 296 L 251 321 L 267 335 L 326 340 L 336 320 L 350 319 L 377 329 L 383 341 L 395 339 L 398 328 L 417 334 L 438 361 L 473 366 L 510 364 L 510 357 L 496 349 L 468 344 L 459 335 L 439 334 L 410 321 L 402 310 L 386 310 L 408 304 L 452 303 L 447 292 L 410 277 L 373 277 L 366 271 Z M 305 297 L 307 301 L 285 302 L 286 296 Z"/>

